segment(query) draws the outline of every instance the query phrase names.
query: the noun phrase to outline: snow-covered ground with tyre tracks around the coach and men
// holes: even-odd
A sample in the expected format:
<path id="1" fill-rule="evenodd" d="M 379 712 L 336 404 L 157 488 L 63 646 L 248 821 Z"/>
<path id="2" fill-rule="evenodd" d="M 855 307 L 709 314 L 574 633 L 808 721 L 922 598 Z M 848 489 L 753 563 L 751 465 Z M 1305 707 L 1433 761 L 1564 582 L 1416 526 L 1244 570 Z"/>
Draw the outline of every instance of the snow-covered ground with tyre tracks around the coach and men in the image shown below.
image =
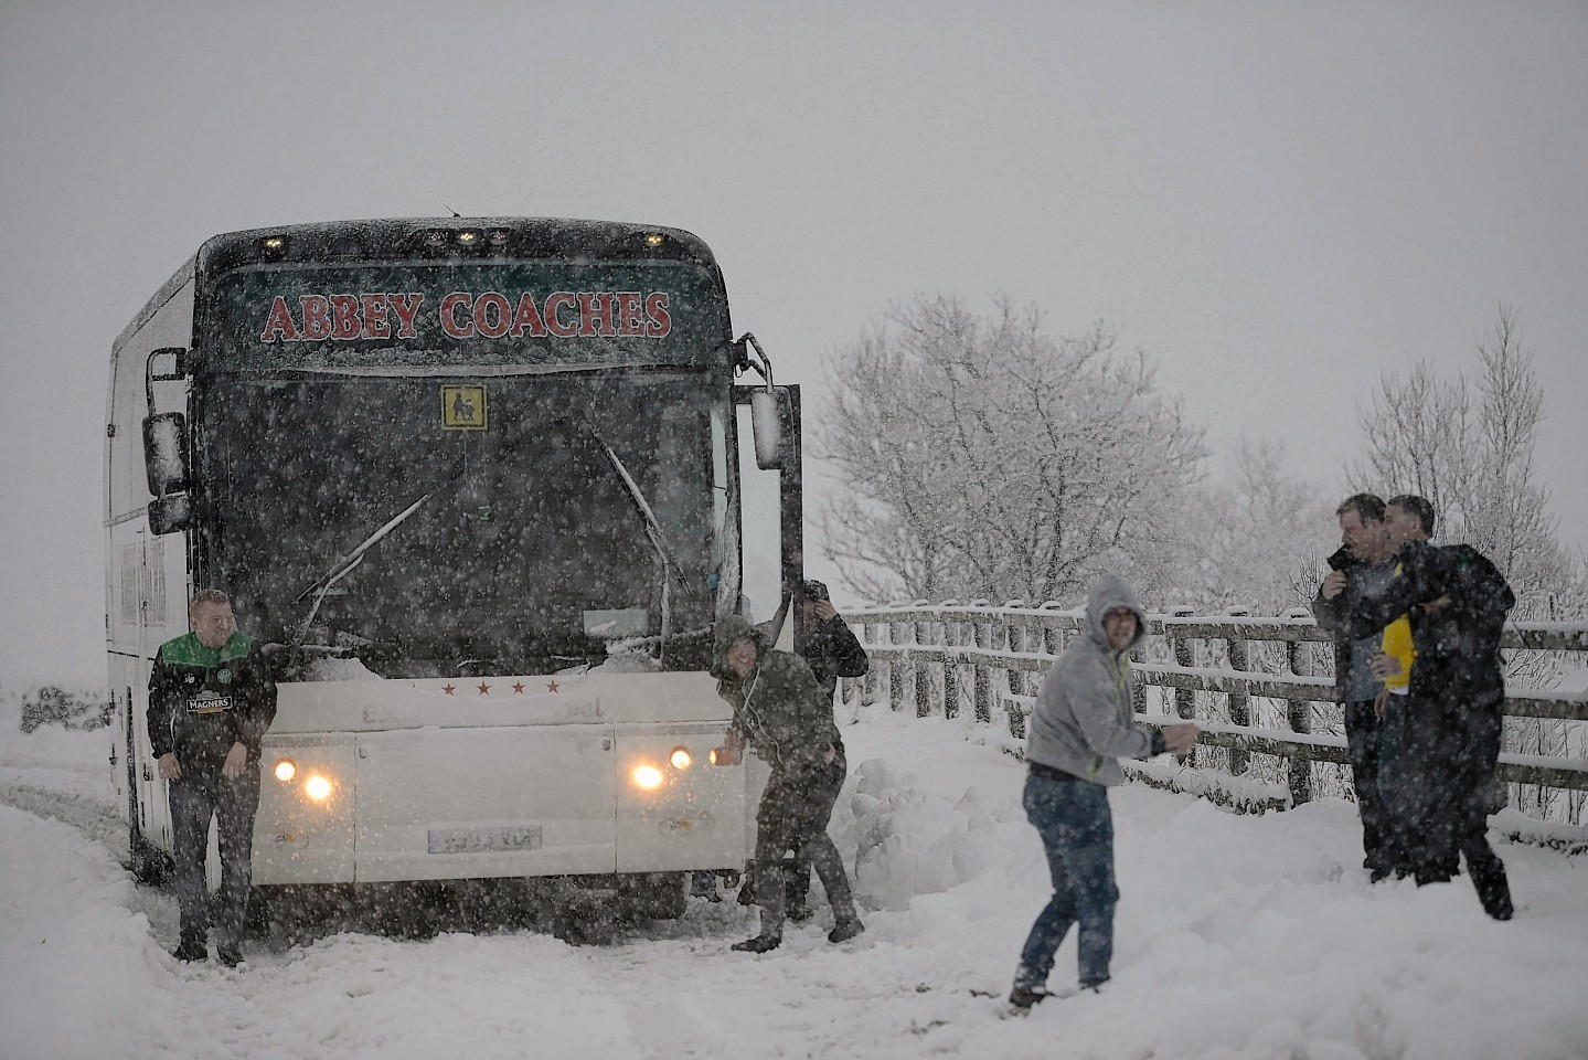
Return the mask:
<path id="1" fill-rule="evenodd" d="M 252 946 L 238 971 L 178 965 L 175 901 L 118 863 L 108 734 L 24 736 L 16 710 L 0 701 L 8 1058 L 1588 1057 L 1588 860 L 1502 844 L 1520 909 L 1494 923 L 1464 879 L 1369 887 L 1348 804 L 1243 817 L 1145 787 L 1112 796 L 1113 982 L 1005 1019 L 1046 899 L 1021 768 L 969 723 L 886 706 L 845 728 L 854 942 L 829 946 L 823 911 L 735 954 L 751 914 L 691 899 L 608 946 L 340 933 Z M 1072 936 L 1050 985 L 1073 961 Z"/>

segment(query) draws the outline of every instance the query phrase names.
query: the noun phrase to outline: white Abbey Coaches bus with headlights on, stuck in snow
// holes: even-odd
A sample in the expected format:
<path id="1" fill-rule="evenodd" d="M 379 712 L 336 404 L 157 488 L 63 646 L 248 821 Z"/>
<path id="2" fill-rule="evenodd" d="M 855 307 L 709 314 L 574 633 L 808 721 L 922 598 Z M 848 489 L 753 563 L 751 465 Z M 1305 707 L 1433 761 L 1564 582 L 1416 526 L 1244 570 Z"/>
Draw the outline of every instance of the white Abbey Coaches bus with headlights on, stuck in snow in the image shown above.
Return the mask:
<path id="1" fill-rule="evenodd" d="M 800 634 L 800 404 L 734 339 L 697 237 L 218 235 L 114 342 L 105 453 L 111 763 L 141 876 L 172 849 L 149 669 L 202 588 L 278 679 L 265 895 L 567 877 L 676 915 L 688 872 L 743 866 L 765 777 L 711 753 L 710 631 L 754 601 Z"/>

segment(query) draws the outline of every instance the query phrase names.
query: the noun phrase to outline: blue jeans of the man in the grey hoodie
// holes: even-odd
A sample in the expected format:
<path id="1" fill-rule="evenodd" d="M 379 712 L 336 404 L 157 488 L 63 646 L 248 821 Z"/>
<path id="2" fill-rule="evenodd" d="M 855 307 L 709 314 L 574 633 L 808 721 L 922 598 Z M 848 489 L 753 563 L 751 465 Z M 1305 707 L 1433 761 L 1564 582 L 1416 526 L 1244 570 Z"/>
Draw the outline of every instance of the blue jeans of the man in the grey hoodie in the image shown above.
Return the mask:
<path id="1" fill-rule="evenodd" d="M 1054 780 L 1032 772 L 1026 779 L 1026 820 L 1042 836 L 1053 876 L 1053 898 L 1037 914 L 1019 952 L 1015 987 L 1040 990 L 1053 971 L 1053 955 L 1080 925 L 1080 985 L 1108 979 L 1113 957 L 1113 815 L 1108 790 L 1086 780 Z"/>

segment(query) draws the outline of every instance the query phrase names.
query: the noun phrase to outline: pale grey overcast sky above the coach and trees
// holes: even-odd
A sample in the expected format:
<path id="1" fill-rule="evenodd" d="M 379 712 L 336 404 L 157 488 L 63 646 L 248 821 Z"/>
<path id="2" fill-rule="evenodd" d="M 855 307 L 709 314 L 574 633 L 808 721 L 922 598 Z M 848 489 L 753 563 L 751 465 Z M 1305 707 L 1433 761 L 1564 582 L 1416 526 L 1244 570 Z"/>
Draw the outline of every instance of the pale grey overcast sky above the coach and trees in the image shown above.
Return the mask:
<path id="1" fill-rule="evenodd" d="M 1575 0 L 5 0 L 0 680 L 103 675 L 108 350 L 154 289 L 216 232 L 443 203 L 689 229 L 818 389 L 915 292 L 1100 318 L 1331 496 L 1380 373 L 1470 373 L 1505 302 L 1580 547 L 1585 100 Z"/>

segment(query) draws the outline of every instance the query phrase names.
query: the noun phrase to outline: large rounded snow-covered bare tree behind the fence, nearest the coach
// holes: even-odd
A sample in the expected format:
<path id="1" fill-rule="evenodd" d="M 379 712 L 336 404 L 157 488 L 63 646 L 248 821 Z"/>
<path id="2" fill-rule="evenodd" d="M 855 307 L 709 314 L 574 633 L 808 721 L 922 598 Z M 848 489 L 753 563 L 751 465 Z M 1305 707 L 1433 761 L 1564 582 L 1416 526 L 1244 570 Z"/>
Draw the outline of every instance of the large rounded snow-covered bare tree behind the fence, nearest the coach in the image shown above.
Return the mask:
<path id="1" fill-rule="evenodd" d="M 1007 299 L 918 297 L 829 361 L 815 451 L 837 480 L 827 555 L 862 593 L 1073 599 L 1100 569 L 1164 583 L 1199 429 L 1145 354 L 1054 339 Z"/>

